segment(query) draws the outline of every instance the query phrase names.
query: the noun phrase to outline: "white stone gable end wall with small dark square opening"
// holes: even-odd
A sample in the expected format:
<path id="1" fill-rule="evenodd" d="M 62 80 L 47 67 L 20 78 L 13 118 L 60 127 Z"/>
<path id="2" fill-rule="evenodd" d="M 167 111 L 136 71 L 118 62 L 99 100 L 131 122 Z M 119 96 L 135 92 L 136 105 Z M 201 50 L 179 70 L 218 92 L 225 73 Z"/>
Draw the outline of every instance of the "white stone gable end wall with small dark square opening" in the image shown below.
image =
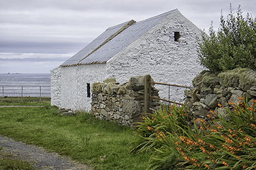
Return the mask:
<path id="1" fill-rule="evenodd" d="M 180 32 L 179 41 L 174 41 L 175 31 Z M 131 76 L 150 74 L 156 82 L 191 86 L 204 69 L 196 53 L 196 36 L 200 35 L 200 29 L 176 11 L 109 60 L 108 76 L 124 83 Z M 156 88 L 161 98 L 168 99 L 168 87 Z M 183 99 L 184 90 L 171 87 L 170 100 Z"/>

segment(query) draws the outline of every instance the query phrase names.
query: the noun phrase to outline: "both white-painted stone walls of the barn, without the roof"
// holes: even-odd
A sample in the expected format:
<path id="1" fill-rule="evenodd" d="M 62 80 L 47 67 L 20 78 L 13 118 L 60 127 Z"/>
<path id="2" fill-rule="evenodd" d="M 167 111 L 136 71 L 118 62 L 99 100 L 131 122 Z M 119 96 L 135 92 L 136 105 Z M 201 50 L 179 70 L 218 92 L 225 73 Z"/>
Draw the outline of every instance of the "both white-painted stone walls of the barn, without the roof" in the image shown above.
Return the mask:
<path id="1" fill-rule="evenodd" d="M 181 34 L 174 41 L 174 31 Z M 52 104 L 71 110 L 90 110 L 87 83 L 115 77 L 119 83 L 132 76 L 150 74 L 154 81 L 191 86 L 193 78 L 204 69 L 197 62 L 196 36 L 200 29 L 179 11 L 165 18 L 106 64 L 58 67 L 52 73 Z M 168 87 L 156 85 L 159 95 L 168 99 Z M 184 89 L 171 87 L 170 100 L 184 98 Z"/>

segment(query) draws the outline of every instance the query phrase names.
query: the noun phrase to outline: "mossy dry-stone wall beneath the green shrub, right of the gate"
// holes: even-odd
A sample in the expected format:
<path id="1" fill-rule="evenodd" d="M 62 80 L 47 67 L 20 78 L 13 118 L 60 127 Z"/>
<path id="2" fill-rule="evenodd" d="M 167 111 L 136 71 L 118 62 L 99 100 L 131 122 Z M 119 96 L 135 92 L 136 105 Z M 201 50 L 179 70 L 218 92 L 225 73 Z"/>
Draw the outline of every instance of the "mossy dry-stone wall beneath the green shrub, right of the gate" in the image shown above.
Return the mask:
<path id="1" fill-rule="evenodd" d="M 248 104 L 252 105 L 252 100 L 256 99 L 256 71 L 234 69 L 218 75 L 202 71 L 194 78 L 193 88 L 185 90 L 185 96 L 191 117 L 204 120 L 219 114 L 225 117 L 226 108 L 233 110 L 233 105 L 228 103 L 242 102 L 239 97 L 247 98 Z"/>

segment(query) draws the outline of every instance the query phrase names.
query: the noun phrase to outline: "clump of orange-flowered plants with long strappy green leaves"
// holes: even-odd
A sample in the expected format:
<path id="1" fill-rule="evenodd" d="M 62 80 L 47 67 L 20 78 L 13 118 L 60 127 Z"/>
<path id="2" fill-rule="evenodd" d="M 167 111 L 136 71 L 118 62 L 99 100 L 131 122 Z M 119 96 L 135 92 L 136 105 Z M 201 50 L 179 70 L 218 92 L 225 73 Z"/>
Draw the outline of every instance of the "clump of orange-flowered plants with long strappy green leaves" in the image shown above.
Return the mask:
<path id="1" fill-rule="evenodd" d="M 193 127 L 183 106 L 160 110 L 141 123 L 132 151 L 153 153 L 148 169 L 256 169 L 256 102 L 233 105 L 226 117 L 197 118 Z"/>

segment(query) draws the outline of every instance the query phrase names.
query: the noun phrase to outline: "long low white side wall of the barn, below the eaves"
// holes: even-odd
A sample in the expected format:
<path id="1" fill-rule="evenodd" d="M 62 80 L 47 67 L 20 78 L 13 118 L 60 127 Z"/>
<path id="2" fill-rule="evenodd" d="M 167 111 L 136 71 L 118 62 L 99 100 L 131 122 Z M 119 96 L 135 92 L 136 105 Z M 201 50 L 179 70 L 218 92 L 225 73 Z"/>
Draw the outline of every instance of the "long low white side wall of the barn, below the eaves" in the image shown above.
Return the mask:
<path id="1" fill-rule="evenodd" d="M 71 110 L 90 111 L 91 97 L 87 97 L 87 83 L 106 79 L 106 64 L 58 67 L 51 71 L 51 104 Z M 61 76 L 56 76 L 61 74 Z"/>

